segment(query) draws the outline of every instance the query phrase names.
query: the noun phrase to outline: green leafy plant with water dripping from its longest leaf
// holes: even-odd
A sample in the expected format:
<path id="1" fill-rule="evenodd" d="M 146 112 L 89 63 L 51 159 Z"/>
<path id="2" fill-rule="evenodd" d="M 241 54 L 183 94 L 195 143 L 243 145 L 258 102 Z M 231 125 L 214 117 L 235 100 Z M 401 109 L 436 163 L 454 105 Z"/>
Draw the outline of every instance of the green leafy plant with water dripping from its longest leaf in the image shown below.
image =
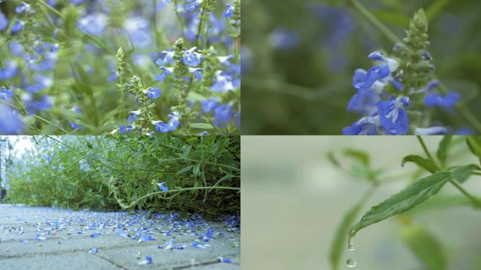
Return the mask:
<path id="1" fill-rule="evenodd" d="M 428 149 L 422 136 L 417 136 L 417 139 L 424 155 L 406 155 L 399 160 L 402 167 L 412 163 L 418 168 L 402 175 L 392 176 L 387 168 L 374 168 L 370 156 L 364 150 L 346 149 L 342 153 L 345 157 L 342 161 L 336 153 L 328 154 L 336 168 L 350 176 L 364 179 L 370 186 L 340 221 L 329 255 L 332 269 L 340 268 L 346 246 L 348 250 L 354 250 L 354 236 L 361 229 L 385 219 L 397 219 L 402 224 L 402 239 L 423 264 L 423 269 L 447 269 L 449 257 L 446 256 L 442 243 L 421 221 L 416 221 L 416 216 L 436 208 L 470 206 L 474 210 L 481 209 L 480 197 L 463 186 L 473 176 L 481 175 L 481 136 L 446 135 L 440 140 L 435 155 Z M 346 160 L 352 160 L 351 167 L 347 166 Z M 460 160 L 468 162 L 461 163 Z M 406 188 L 371 207 L 356 222 L 359 213 L 379 186 L 406 179 L 411 179 Z M 437 194 L 445 186 L 456 188 L 458 195 Z M 347 266 L 354 267 L 356 264 L 356 259 L 347 259 Z"/>

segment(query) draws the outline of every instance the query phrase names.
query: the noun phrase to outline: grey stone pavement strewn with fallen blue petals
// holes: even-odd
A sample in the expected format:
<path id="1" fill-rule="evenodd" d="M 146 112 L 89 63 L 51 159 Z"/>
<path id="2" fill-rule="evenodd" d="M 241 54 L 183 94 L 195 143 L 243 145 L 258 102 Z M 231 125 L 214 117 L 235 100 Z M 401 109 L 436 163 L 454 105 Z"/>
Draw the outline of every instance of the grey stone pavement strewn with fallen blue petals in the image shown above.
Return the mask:
<path id="1" fill-rule="evenodd" d="M 0 240 L 2 270 L 241 269 L 238 217 L 0 205 Z"/>

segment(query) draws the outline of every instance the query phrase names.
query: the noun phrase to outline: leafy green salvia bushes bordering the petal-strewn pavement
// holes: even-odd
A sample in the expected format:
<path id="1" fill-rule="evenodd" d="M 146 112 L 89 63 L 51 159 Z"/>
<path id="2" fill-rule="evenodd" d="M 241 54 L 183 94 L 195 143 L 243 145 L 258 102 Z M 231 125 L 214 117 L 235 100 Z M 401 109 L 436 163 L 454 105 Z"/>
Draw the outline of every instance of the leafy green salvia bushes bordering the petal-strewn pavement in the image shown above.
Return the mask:
<path id="1" fill-rule="evenodd" d="M 18 141 L 20 139 L 20 141 Z M 10 136 L 8 202 L 82 210 L 240 214 L 239 136 Z"/>

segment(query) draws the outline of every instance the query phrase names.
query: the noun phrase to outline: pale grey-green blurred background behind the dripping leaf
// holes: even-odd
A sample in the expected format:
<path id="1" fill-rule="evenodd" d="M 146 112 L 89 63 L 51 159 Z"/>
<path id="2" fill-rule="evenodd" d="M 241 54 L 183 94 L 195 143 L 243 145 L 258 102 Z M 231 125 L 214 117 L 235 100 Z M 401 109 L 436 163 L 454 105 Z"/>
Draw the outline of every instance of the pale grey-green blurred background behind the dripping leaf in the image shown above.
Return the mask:
<path id="1" fill-rule="evenodd" d="M 433 153 L 441 137 L 424 140 Z M 448 157 L 452 163 L 477 163 L 462 139 L 457 140 Z M 379 186 L 356 221 L 412 180 L 409 173 L 416 172 L 416 165 L 401 167 L 404 155 L 423 155 L 414 136 L 242 136 L 241 148 L 243 269 L 331 269 L 328 256 L 335 230 L 369 184 L 335 169 L 326 158 L 329 151 L 347 162 L 340 155 L 343 149 L 366 150 L 375 169 L 384 168 L 390 176 L 407 174 Z M 481 195 L 478 180 L 473 177 L 463 186 Z M 359 231 L 354 251 L 347 250 L 347 242 L 343 246 L 340 269 L 348 269 L 349 257 L 357 259 L 359 270 L 428 269 L 406 244 L 406 231 L 418 226 L 440 241 L 447 269 L 481 269 L 480 211 L 433 207 L 439 202 L 434 199 L 451 195 L 461 193 L 446 185 L 418 205 L 431 208 L 415 208 L 411 220 L 395 216 Z"/>

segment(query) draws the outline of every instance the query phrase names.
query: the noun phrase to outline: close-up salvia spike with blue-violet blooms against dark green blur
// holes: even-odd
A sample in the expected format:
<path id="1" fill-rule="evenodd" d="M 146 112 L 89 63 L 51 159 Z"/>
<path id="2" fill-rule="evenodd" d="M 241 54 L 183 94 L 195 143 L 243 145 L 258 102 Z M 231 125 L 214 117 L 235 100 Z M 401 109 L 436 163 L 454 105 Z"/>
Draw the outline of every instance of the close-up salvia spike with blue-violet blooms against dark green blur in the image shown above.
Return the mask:
<path id="1" fill-rule="evenodd" d="M 382 25 L 359 1 L 354 6 L 383 30 L 396 44 L 392 51 L 373 51 L 368 58 L 376 65 L 368 70 L 357 69 L 352 77 L 356 94 L 347 110 L 359 119 L 342 129 L 346 135 L 433 135 L 453 133 L 435 118 L 433 108 L 466 117 L 473 127 L 479 121 L 460 101 L 460 94 L 447 89 L 435 76 L 429 53 L 428 19 L 423 9 L 417 11 L 400 41 Z"/>

